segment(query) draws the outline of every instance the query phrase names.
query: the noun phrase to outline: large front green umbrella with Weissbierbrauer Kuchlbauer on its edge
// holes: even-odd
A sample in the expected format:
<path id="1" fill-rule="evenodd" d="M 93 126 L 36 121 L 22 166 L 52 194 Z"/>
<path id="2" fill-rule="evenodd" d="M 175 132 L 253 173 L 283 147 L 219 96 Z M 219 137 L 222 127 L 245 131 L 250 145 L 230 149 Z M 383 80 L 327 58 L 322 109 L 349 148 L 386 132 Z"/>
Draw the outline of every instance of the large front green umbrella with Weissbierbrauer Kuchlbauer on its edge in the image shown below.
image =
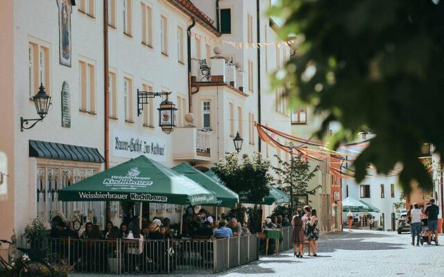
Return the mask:
<path id="1" fill-rule="evenodd" d="M 215 204 L 214 193 L 151 159 L 139 156 L 62 188 L 61 201 Z"/>

